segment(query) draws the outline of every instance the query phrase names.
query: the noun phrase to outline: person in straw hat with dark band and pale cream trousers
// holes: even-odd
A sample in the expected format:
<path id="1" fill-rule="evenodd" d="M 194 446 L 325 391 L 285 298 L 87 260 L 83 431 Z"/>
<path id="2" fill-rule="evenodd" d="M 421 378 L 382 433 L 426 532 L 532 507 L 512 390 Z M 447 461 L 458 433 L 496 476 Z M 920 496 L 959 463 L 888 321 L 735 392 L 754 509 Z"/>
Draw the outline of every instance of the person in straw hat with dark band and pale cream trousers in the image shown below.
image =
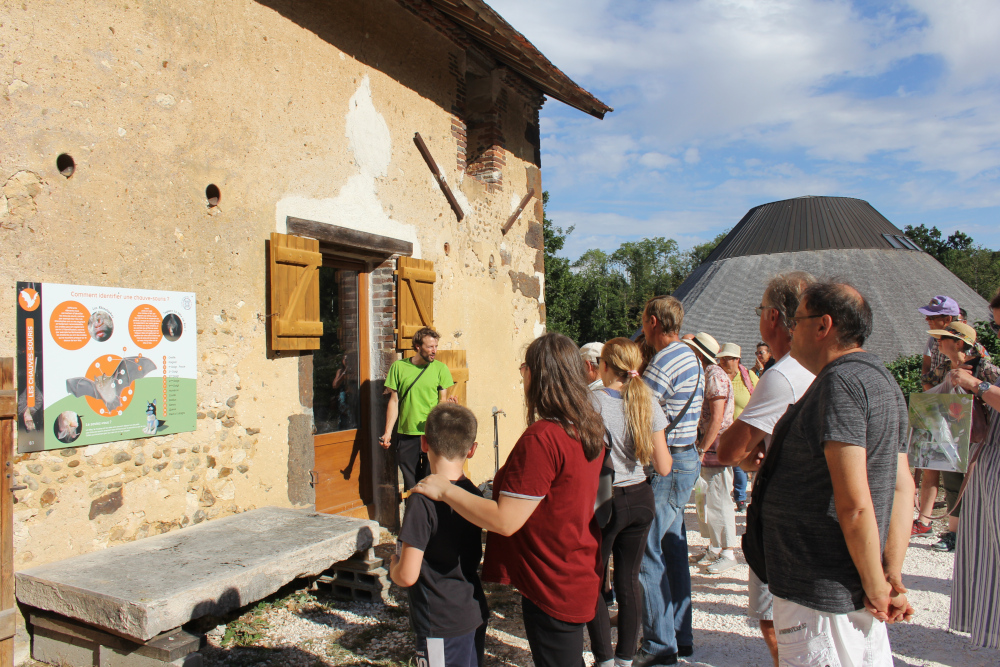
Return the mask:
<path id="1" fill-rule="evenodd" d="M 730 490 L 733 488 L 733 469 L 719 464 L 715 448 L 719 436 L 733 423 L 733 383 L 718 366 L 719 343 L 710 335 L 700 332 L 684 340 L 698 353 L 705 368 L 705 403 L 698 424 L 698 451 L 701 454 L 701 478 L 705 489 L 705 526 L 709 547 L 696 560 L 707 566 L 706 572 L 718 574 L 736 565 L 737 545 L 736 508 Z"/>

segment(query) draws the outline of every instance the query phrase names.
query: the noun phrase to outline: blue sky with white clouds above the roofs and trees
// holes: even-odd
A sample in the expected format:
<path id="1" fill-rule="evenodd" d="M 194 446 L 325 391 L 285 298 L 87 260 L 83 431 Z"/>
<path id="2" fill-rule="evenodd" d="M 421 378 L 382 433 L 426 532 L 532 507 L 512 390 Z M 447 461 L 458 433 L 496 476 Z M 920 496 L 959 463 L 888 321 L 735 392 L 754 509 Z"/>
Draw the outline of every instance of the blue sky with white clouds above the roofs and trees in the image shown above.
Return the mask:
<path id="1" fill-rule="evenodd" d="M 1000 249 L 1000 2 L 488 0 L 603 121 L 542 109 L 565 253 L 682 248 L 753 206 L 858 197 Z"/>

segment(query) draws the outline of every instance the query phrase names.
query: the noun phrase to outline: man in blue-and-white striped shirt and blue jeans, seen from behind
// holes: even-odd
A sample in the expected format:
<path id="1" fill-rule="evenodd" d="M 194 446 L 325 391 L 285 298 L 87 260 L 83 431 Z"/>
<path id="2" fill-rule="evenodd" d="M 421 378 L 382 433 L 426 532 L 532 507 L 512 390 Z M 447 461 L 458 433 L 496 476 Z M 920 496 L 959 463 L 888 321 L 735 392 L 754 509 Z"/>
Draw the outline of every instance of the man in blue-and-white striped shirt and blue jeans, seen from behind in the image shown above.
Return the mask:
<path id="1" fill-rule="evenodd" d="M 671 296 L 654 297 L 642 314 L 646 342 L 656 350 L 643 379 L 663 408 L 669 423 L 683 412 L 667 433 L 674 464 L 669 475 L 655 472 L 650 484 L 656 515 L 646 540 L 639 579 L 644 592 L 642 649 L 636 667 L 673 665 L 694 651 L 691 630 L 691 573 L 688 570 L 684 505 L 701 470 L 694 442 L 704 396 L 701 364 L 680 342 L 684 307 Z M 689 402 L 690 399 L 690 402 Z"/>

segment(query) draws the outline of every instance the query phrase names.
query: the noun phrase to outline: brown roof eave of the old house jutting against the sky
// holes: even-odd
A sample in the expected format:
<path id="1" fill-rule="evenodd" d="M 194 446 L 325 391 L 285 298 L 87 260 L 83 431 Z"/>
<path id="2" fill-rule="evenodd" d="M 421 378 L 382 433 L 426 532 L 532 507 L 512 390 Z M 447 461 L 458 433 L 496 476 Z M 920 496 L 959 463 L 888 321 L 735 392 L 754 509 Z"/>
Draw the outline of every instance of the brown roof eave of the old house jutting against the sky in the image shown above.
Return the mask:
<path id="1" fill-rule="evenodd" d="M 614 111 L 553 65 L 483 0 L 429 1 L 460 25 L 469 37 L 486 47 L 497 60 L 549 97 L 599 119 Z"/>

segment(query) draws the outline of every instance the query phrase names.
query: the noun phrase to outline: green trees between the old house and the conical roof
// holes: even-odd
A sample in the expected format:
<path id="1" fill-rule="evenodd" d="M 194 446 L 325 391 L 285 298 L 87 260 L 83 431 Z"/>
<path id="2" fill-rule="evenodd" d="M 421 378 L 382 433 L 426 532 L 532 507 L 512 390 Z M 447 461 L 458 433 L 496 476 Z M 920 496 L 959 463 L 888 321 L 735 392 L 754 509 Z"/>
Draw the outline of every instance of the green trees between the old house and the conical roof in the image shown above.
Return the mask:
<path id="1" fill-rule="evenodd" d="M 549 194 L 542 193 L 547 204 Z M 544 216 L 546 328 L 577 344 L 631 336 L 646 301 L 670 294 L 701 264 L 727 232 L 681 252 L 673 239 L 627 241 L 611 254 L 588 250 L 575 262 L 558 257 L 573 228 Z"/>

